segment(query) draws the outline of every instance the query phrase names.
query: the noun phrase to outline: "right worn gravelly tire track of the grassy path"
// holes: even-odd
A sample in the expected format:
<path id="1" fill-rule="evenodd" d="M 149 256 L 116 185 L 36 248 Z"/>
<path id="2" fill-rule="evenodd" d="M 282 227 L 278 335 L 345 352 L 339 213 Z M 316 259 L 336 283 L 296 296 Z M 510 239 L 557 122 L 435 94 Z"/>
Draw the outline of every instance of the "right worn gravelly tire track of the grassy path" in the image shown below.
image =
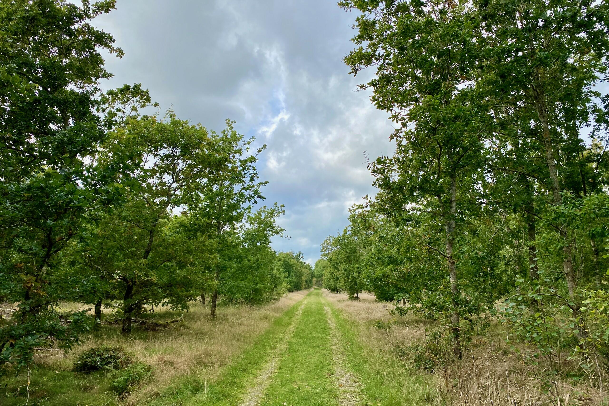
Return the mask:
<path id="1" fill-rule="evenodd" d="M 333 352 L 333 364 L 334 364 L 334 379 L 339 387 L 339 405 L 340 406 L 359 406 L 364 405 L 364 398 L 359 390 L 359 383 L 357 377 L 349 372 L 347 367 L 346 355 L 342 346 L 340 345 L 339 332 L 336 329 L 336 323 L 334 322 L 334 315 L 327 304 L 323 304 L 323 310 L 326 312 L 328 318 L 328 325 L 330 327 L 330 340 Z"/>

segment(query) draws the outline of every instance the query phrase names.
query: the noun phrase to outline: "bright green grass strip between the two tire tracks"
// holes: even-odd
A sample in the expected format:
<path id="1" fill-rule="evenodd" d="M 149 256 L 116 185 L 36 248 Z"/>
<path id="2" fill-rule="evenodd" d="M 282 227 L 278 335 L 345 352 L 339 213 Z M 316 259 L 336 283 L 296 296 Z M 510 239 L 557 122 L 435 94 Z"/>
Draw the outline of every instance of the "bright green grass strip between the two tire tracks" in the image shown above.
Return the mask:
<path id="1" fill-rule="evenodd" d="M 336 405 L 329 326 L 321 292 L 316 289 L 303 309 L 286 354 L 261 405 Z"/>

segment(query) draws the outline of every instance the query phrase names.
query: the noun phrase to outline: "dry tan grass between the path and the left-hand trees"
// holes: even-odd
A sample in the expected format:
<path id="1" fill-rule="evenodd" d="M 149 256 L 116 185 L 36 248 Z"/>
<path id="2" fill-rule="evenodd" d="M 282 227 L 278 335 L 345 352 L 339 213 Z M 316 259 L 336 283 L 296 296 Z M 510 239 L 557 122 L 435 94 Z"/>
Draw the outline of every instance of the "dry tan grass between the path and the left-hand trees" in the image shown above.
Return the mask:
<path id="1" fill-rule="evenodd" d="M 128 399 L 129 404 L 145 404 L 146 399 L 156 396 L 180 376 L 197 374 L 202 380 L 214 380 L 222 366 L 252 345 L 275 318 L 307 293 L 309 291 L 289 293 L 266 306 L 219 307 L 217 320 L 209 317 L 209 306 L 192 303 L 191 309 L 183 317 L 183 323 L 175 327 L 155 332 L 134 332 L 128 337 L 119 334 L 118 327 L 104 327 L 68 354 L 41 351 L 37 355 L 37 363 L 52 369 L 69 370 L 81 351 L 102 344 L 122 346 L 137 359 L 152 366 L 153 384 L 136 391 Z M 79 304 L 62 304 L 66 310 L 80 307 Z M 176 316 L 179 317 L 179 313 L 166 309 L 155 312 L 155 318 L 161 320 Z"/>

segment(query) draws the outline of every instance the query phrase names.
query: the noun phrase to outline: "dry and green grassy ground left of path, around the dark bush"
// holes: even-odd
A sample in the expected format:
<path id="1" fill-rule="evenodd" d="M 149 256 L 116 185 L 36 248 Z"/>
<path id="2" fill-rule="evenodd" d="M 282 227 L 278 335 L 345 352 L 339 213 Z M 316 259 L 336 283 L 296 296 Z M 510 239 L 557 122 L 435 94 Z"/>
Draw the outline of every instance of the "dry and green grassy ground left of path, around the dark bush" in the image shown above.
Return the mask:
<path id="1" fill-rule="evenodd" d="M 284 322 L 293 315 L 294 304 L 308 292 L 294 292 L 265 306 L 223 306 L 215 321 L 209 319 L 209 307 L 194 303 L 183 315 L 183 323 L 160 331 L 135 330 L 132 335 L 120 334 L 120 326 L 104 325 L 86 337 L 73 351 L 56 348 L 39 351 L 30 373 L 28 405 L 45 406 L 114 406 L 118 404 L 148 405 L 160 401 L 172 404 L 175 391 L 205 392 L 209 382 L 224 374 L 245 349 L 254 348 L 282 331 Z M 79 306 L 62 304 L 62 306 Z M 157 309 L 153 318 L 171 320 L 182 313 Z M 110 318 L 111 312 L 104 318 Z M 121 346 L 138 362 L 152 368 L 152 379 L 134 388 L 127 397 L 118 399 L 110 389 L 111 374 L 74 373 L 72 365 L 77 354 L 100 345 Z M 247 352 L 247 351 L 245 351 Z M 259 352 L 262 354 L 262 352 Z M 0 405 L 21 406 L 27 399 L 27 376 L 4 377 L 0 385 Z M 165 403 L 160 403 L 165 404 Z"/>

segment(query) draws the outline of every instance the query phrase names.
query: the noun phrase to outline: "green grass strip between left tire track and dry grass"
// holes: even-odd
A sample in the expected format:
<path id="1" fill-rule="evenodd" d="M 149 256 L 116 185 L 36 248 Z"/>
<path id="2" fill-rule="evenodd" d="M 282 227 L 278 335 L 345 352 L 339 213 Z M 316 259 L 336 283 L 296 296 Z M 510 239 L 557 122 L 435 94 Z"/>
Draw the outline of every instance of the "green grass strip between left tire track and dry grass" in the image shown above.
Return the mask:
<path id="1" fill-rule="evenodd" d="M 235 405 L 239 395 L 245 391 L 247 382 L 259 373 L 270 351 L 283 339 L 281 333 L 292 323 L 299 306 L 301 306 L 301 302 L 278 317 L 250 348 L 239 354 L 234 362 L 224 369 L 218 380 L 206 382 L 195 375 L 182 377 L 148 404 L 159 406 Z"/>

